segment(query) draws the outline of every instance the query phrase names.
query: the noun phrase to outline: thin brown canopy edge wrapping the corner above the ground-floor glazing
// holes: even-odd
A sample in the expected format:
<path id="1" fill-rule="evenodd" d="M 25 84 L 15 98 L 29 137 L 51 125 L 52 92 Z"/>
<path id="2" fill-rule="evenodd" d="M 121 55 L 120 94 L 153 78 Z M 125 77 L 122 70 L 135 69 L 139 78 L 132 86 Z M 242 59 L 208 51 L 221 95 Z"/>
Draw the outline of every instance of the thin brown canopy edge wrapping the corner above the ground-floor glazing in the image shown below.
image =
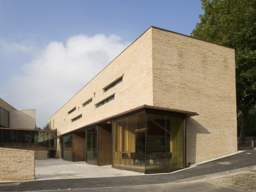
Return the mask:
<path id="1" fill-rule="evenodd" d="M 99 120 L 97 122 L 93 122 L 92 124 L 84 125 L 83 127 L 79 127 L 79 128 L 74 129 L 72 131 L 65 132 L 64 134 L 60 134 L 59 136 L 57 136 L 57 138 L 62 138 L 66 134 L 70 134 L 72 132 L 76 132 L 76 131 L 79 131 L 81 129 L 86 129 L 88 127 L 92 127 L 92 126 L 97 125 L 97 124 L 103 124 L 103 123 L 106 123 L 110 120 L 120 118 L 121 116 L 125 116 L 125 115 L 129 115 L 131 113 L 136 113 L 136 112 L 142 111 L 143 109 L 155 109 L 155 110 L 159 110 L 159 111 L 177 113 L 177 114 L 184 115 L 186 117 L 199 115 L 198 113 L 192 112 L 192 111 L 182 111 L 182 110 L 179 110 L 179 109 L 161 108 L 161 107 L 157 107 L 157 106 L 143 105 L 143 106 L 139 106 L 137 108 L 129 109 L 128 111 L 124 111 L 122 113 L 118 113 L 118 114 L 113 115 L 113 116 L 109 116 L 108 118 L 104 118 L 104 119 Z"/>

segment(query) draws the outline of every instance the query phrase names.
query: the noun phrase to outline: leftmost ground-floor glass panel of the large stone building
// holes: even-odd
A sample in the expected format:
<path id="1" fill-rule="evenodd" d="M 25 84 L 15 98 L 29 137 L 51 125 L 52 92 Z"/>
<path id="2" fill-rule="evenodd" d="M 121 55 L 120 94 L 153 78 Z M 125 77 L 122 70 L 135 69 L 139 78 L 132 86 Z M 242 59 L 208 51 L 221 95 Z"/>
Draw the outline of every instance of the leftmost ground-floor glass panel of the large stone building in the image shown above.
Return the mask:
<path id="1" fill-rule="evenodd" d="M 63 136 L 63 160 L 73 161 L 73 134 Z"/>

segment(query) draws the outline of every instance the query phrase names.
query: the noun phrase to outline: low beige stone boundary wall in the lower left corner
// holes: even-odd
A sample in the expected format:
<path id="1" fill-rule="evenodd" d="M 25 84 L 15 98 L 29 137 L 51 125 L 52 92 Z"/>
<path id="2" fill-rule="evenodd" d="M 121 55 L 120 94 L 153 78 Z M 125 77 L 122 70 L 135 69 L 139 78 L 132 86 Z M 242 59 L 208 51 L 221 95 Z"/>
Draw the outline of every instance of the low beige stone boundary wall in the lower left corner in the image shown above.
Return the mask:
<path id="1" fill-rule="evenodd" d="M 35 180 L 35 152 L 0 148 L 0 180 Z"/>

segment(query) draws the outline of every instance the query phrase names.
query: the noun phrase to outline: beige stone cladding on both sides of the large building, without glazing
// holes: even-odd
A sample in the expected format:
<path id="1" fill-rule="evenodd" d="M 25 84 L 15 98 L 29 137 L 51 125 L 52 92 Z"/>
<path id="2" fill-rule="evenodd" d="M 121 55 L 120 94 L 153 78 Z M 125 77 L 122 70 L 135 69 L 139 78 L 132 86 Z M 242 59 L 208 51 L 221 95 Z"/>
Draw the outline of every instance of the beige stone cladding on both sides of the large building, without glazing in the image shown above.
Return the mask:
<path id="1" fill-rule="evenodd" d="M 121 76 L 122 83 L 104 92 Z M 61 135 L 143 105 L 193 111 L 199 115 L 186 121 L 186 161 L 199 163 L 237 151 L 235 76 L 234 49 L 151 27 L 57 111 L 49 126 Z M 113 94 L 114 100 L 96 107 Z"/>

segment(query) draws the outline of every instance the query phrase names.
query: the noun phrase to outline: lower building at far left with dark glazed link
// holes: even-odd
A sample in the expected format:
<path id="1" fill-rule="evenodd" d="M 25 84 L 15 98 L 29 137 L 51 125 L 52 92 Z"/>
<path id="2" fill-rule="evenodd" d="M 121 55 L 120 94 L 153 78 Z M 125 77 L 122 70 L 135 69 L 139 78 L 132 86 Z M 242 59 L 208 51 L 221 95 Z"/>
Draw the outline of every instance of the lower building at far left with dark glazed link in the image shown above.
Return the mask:
<path id="1" fill-rule="evenodd" d="M 35 129 L 35 113 L 0 98 L 0 147 L 35 150 L 36 159 L 56 156 L 56 131 Z"/>

